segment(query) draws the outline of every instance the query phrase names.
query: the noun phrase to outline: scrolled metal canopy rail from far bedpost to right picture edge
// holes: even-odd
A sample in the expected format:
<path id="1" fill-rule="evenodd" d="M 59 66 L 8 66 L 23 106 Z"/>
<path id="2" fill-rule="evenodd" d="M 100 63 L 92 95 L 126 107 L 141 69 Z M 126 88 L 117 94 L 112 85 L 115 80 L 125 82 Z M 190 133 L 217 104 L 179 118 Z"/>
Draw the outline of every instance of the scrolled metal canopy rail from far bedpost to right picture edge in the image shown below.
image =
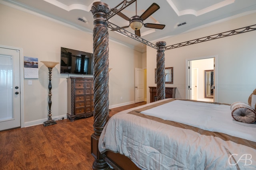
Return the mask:
<path id="1" fill-rule="evenodd" d="M 192 45 L 192 44 L 196 44 L 196 43 L 202 43 L 202 42 L 205 42 L 205 41 L 210 41 L 210 40 L 213 40 L 213 39 L 228 37 L 228 36 L 236 35 L 236 34 L 240 34 L 240 33 L 246 33 L 246 32 L 254 31 L 254 30 L 256 30 L 256 24 L 255 25 L 250 25 L 250 26 L 247 26 L 247 27 L 234 29 L 234 30 L 231 30 L 231 31 L 226 31 L 226 32 L 223 32 L 223 33 L 210 35 L 210 36 L 207 36 L 207 37 L 202 37 L 202 38 L 199 38 L 199 39 L 193 39 L 193 40 L 190 40 L 190 41 L 186 41 L 184 43 L 169 45 L 169 46 L 165 47 L 165 50 L 175 49 L 175 48 L 178 48 L 178 47 L 184 47 L 184 46 Z"/>

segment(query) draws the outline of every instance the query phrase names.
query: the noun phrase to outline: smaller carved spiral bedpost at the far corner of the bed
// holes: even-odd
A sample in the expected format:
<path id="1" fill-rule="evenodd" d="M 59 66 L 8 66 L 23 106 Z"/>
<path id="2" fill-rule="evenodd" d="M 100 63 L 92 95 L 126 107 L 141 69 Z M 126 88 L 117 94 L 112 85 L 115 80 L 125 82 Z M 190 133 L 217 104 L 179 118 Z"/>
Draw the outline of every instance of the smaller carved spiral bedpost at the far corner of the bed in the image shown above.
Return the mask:
<path id="1" fill-rule="evenodd" d="M 158 47 L 156 55 L 156 100 L 165 99 L 165 64 L 164 64 L 164 47 L 166 42 L 156 43 Z"/>

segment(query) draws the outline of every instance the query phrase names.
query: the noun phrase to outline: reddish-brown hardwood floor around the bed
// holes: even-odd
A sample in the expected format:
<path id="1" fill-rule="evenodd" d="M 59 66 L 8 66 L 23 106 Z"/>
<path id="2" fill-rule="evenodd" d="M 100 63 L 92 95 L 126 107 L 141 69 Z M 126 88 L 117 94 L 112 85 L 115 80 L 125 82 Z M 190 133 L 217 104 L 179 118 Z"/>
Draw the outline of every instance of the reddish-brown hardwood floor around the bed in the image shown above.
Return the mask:
<path id="1" fill-rule="evenodd" d="M 146 102 L 112 108 L 109 115 Z M 0 132 L 0 170 L 91 170 L 93 117 Z"/>

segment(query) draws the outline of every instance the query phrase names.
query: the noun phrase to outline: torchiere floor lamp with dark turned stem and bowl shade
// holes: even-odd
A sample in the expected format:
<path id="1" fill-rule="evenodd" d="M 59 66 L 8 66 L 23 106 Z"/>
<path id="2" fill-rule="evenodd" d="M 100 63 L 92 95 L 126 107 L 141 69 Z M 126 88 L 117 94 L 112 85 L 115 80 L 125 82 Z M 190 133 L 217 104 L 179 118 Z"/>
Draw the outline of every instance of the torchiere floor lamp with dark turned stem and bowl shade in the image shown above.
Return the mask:
<path id="1" fill-rule="evenodd" d="M 48 111 L 48 120 L 45 121 L 43 123 L 44 126 L 49 126 L 49 125 L 54 125 L 57 124 L 56 121 L 52 120 L 52 111 L 51 111 L 51 106 L 52 106 L 52 68 L 54 68 L 54 66 L 56 66 L 56 64 L 58 64 L 58 62 L 54 62 L 54 61 L 41 61 L 42 63 L 44 63 L 45 66 L 48 67 L 49 70 L 49 85 L 48 85 L 48 89 L 49 89 L 49 93 L 48 93 L 48 106 L 49 106 L 49 111 Z"/>

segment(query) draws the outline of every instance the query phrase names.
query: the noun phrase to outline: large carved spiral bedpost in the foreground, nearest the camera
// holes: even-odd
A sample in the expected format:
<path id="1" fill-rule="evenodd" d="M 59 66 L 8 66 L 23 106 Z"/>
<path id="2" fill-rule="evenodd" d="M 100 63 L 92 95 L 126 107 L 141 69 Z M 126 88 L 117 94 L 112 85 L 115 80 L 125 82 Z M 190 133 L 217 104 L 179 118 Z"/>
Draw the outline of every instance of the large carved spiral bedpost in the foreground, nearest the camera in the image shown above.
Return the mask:
<path id="1" fill-rule="evenodd" d="M 94 170 L 106 170 L 108 164 L 98 151 L 98 139 L 108 121 L 108 22 L 106 13 L 110 7 L 103 2 L 94 2 L 91 12 L 94 16 L 93 29 L 93 80 L 94 80 L 94 134 L 91 135 L 91 151 L 95 160 Z"/>

